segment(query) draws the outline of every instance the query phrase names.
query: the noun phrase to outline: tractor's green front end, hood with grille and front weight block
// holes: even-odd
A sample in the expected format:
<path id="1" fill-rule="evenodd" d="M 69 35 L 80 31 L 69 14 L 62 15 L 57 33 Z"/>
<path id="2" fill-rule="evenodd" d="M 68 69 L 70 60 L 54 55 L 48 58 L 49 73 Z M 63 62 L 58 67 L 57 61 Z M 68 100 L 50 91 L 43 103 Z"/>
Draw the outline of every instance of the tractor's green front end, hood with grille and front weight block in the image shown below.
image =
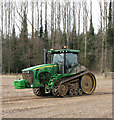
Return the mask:
<path id="1" fill-rule="evenodd" d="M 42 64 L 22 70 L 23 79 L 14 81 L 16 89 L 42 87 L 56 74 L 56 64 Z M 44 75 L 42 77 L 42 75 Z M 40 76 L 40 77 L 38 77 Z"/>

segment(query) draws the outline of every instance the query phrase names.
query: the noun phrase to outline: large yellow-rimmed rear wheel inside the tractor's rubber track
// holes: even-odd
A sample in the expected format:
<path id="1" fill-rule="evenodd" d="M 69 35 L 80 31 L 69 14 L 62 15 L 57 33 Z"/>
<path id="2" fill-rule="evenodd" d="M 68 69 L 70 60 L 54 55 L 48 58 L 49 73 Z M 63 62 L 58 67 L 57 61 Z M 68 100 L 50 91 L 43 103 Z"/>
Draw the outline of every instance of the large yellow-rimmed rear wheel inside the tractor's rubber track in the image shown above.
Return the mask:
<path id="1" fill-rule="evenodd" d="M 81 89 L 85 94 L 91 94 L 96 87 L 96 79 L 92 73 L 84 74 L 81 78 Z"/>

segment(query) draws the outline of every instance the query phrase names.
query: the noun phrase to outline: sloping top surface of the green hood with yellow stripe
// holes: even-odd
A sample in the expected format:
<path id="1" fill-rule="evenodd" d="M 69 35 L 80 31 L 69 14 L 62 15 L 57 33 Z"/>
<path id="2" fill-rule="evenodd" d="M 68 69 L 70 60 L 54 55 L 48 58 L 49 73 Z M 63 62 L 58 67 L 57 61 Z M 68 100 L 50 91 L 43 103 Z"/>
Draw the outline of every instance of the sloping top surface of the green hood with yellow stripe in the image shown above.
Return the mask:
<path id="1" fill-rule="evenodd" d="M 37 66 L 33 66 L 33 67 L 29 67 L 29 68 L 26 68 L 26 69 L 23 69 L 22 72 L 24 71 L 34 71 L 34 70 L 37 70 L 37 69 L 44 69 L 44 68 L 49 68 L 49 67 L 56 67 L 56 64 L 42 64 L 42 65 L 37 65 Z"/>

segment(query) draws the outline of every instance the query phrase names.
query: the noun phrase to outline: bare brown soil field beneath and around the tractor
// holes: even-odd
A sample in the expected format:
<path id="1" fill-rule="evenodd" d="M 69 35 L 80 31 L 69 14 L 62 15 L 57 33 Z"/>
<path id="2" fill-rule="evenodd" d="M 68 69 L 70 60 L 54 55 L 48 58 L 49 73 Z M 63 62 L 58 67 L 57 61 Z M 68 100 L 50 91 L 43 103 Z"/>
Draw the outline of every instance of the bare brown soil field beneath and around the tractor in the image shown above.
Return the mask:
<path id="1" fill-rule="evenodd" d="M 112 80 L 97 76 L 92 95 L 37 97 L 32 89 L 17 90 L 14 75 L 2 76 L 2 118 L 112 118 Z"/>

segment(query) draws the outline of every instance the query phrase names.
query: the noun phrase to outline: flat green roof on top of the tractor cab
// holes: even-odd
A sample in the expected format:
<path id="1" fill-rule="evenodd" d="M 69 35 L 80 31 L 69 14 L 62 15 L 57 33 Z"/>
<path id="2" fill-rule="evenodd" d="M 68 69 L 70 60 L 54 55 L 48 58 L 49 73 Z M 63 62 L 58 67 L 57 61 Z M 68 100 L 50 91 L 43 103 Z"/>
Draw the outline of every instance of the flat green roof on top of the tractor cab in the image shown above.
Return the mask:
<path id="1" fill-rule="evenodd" d="M 75 53 L 75 54 L 78 54 L 80 52 L 80 50 L 71 50 L 71 49 L 53 50 L 53 49 L 51 49 L 48 52 L 51 54 L 57 54 L 57 53 Z"/>

